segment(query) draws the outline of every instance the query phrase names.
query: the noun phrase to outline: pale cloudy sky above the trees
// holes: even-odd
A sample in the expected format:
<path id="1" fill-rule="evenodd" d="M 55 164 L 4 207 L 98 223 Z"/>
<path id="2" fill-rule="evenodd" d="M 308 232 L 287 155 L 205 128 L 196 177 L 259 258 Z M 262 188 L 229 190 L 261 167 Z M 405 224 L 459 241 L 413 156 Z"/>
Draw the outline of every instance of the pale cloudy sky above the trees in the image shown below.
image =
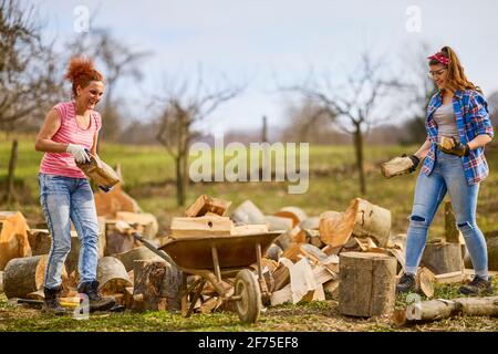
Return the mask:
<path id="1" fill-rule="evenodd" d="M 286 105 L 297 98 L 283 96 L 279 85 L 301 82 L 311 66 L 340 77 L 354 70 L 365 49 L 385 59 L 392 72 L 403 73 L 396 65 L 409 48 L 425 42 L 428 56 L 447 44 L 459 54 L 470 81 L 485 93 L 498 90 L 496 0 L 23 2 L 39 7 L 49 38 L 74 37 L 74 10 L 84 6 L 94 15 L 90 33 L 107 28 L 125 44 L 154 53 L 144 62 L 139 90 L 129 81 L 118 87 L 136 118 L 149 118 L 142 108 L 148 94 L 160 91 L 164 76 L 191 77 L 199 64 L 214 82 L 224 83 L 224 76 L 235 84 L 248 82 L 241 96 L 209 118 L 206 129 L 211 133 L 255 128 L 262 115 L 272 125 L 283 124 Z"/>

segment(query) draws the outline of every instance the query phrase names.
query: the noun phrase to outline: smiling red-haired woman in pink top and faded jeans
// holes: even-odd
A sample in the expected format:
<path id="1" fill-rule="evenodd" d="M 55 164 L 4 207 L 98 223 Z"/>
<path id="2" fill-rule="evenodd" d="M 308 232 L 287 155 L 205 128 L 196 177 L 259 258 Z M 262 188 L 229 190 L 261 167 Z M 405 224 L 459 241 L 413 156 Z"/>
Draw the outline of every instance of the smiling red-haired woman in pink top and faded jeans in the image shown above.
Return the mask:
<path id="1" fill-rule="evenodd" d="M 44 310 L 64 313 L 59 302 L 61 273 L 71 250 L 71 221 L 81 243 L 77 291 L 89 296 L 90 309 L 107 309 L 113 298 L 97 291 L 98 222 L 90 184 L 77 163 L 96 154 L 101 115 L 94 111 L 104 94 L 104 76 L 91 60 L 73 58 L 65 75 L 72 83 L 73 100 L 56 104 L 46 114 L 35 142 L 44 152 L 40 164 L 40 202 L 52 237 L 44 275 Z"/>

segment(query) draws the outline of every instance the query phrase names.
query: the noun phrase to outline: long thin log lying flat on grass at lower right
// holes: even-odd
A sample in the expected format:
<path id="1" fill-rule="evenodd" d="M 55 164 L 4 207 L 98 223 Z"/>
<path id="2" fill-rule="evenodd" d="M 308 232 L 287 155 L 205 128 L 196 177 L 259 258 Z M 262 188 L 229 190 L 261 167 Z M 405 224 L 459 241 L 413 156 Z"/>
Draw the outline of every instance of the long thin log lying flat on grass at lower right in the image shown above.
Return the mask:
<path id="1" fill-rule="evenodd" d="M 396 325 L 430 322 L 457 315 L 498 316 L 498 296 L 437 299 L 413 303 L 393 313 Z"/>

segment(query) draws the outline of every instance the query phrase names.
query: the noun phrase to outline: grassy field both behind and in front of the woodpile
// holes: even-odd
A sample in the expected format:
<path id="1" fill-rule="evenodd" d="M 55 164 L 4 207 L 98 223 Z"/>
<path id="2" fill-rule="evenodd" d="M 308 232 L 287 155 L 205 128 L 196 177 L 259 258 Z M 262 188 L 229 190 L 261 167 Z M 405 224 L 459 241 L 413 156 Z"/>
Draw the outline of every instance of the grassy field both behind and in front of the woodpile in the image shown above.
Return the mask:
<path id="1" fill-rule="evenodd" d="M 3 137 L 2 137 L 3 138 Z M 415 146 L 365 147 L 367 192 L 363 198 L 387 208 L 392 212 L 392 230 L 405 233 L 409 216 L 416 175 L 384 179 L 378 165 L 402 153 L 412 153 Z M 0 187 L 4 188 L 10 142 L 0 142 Z M 33 139 L 22 137 L 15 187 L 19 202 L 11 209 L 21 210 L 30 222 L 41 220 L 38 205 L 37 171 L 42 154 L 33 150 Z M 173 160 L 166 150 L 156 146 L 121 146 L 102 144 L 101 157 L 108 164 L 121 164 L 125 190 L 134 197 L 142 209 L 154 214 L 163 233 L 169 220 L 180 216 L 185 207 L 177 207 L 174 186 Z M 487 150 L 491 174 L 481 185 L 477 221 L 484 232 L 498 229 L 498 149 Z M 284 183 L 203 183 L 191 184 L 187 194 L 187 206 L 200 194 L 225 198 L 237 206 L 251 199 L 263 212 L 271 214 L 286 206 L 301 207 L 309 216 L 319 216 L 325 210 L 342 211 L 350 201 L 360 197 L 357 175 L 354 171 L 352 147 L 311 146 L 309 190 L 302 195 L 290 195 Z M 0 206 L 6 209 L 7 206 Z M 430 238 L 443 232 L 443 210 L 439 211 L 429 231 Z M 495 289 L 498 283 L 495 281 Z M 456 287 L 439 287 L 436 296 L 454 298 Z M 403 299 L 398 299 L 403 303 Z M 458 317 L 433 324 L 404 329 L 393 327 L 386 319 L 356 320 L 341 316 L 336 300 L 313 302 L 303 305 L 269 308 L 261 321 L 253 326 L 238 323 L 235 314 L 214 313 L 181 319 L 178 314 L 151 312 L 146 314 L 94 315 L 91 321 L 71 317 L 55 319 L 37 310 L 17 309 L 7 299 L 0 298 L 0 331 L 496 331 L 495 319 Z"/>

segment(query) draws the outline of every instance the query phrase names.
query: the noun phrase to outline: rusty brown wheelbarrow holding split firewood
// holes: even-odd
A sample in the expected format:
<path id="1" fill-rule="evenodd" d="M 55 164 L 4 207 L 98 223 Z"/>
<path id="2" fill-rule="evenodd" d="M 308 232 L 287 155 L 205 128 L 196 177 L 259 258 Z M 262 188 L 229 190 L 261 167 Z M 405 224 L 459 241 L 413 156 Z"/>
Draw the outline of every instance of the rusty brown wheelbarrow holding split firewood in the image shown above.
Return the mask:
<path id="1" fill-rule="evenodd" d="M 116 228 L 126 232 L 124 223 L 116 223 Z M 270 295 L 262 274 L 261 254 L 282 232 L 181 237 L 170 239 L 159 248 L 138 232 L 131 233 L 149 250 L 183 271 L 183 316 L 190 316 L 203 289 L 209 282 L 221 301 L 235 302 L 241 322 L 255 323 L 261 311 L 261 298 Z M 249 270 L 255 263 L 258 278 Z M 198 279 L 187 287 L 187 275 L 198 275 Z M 227 289 L 222 280 L 232 277 L 235 277 L 234 287 Z"/>

